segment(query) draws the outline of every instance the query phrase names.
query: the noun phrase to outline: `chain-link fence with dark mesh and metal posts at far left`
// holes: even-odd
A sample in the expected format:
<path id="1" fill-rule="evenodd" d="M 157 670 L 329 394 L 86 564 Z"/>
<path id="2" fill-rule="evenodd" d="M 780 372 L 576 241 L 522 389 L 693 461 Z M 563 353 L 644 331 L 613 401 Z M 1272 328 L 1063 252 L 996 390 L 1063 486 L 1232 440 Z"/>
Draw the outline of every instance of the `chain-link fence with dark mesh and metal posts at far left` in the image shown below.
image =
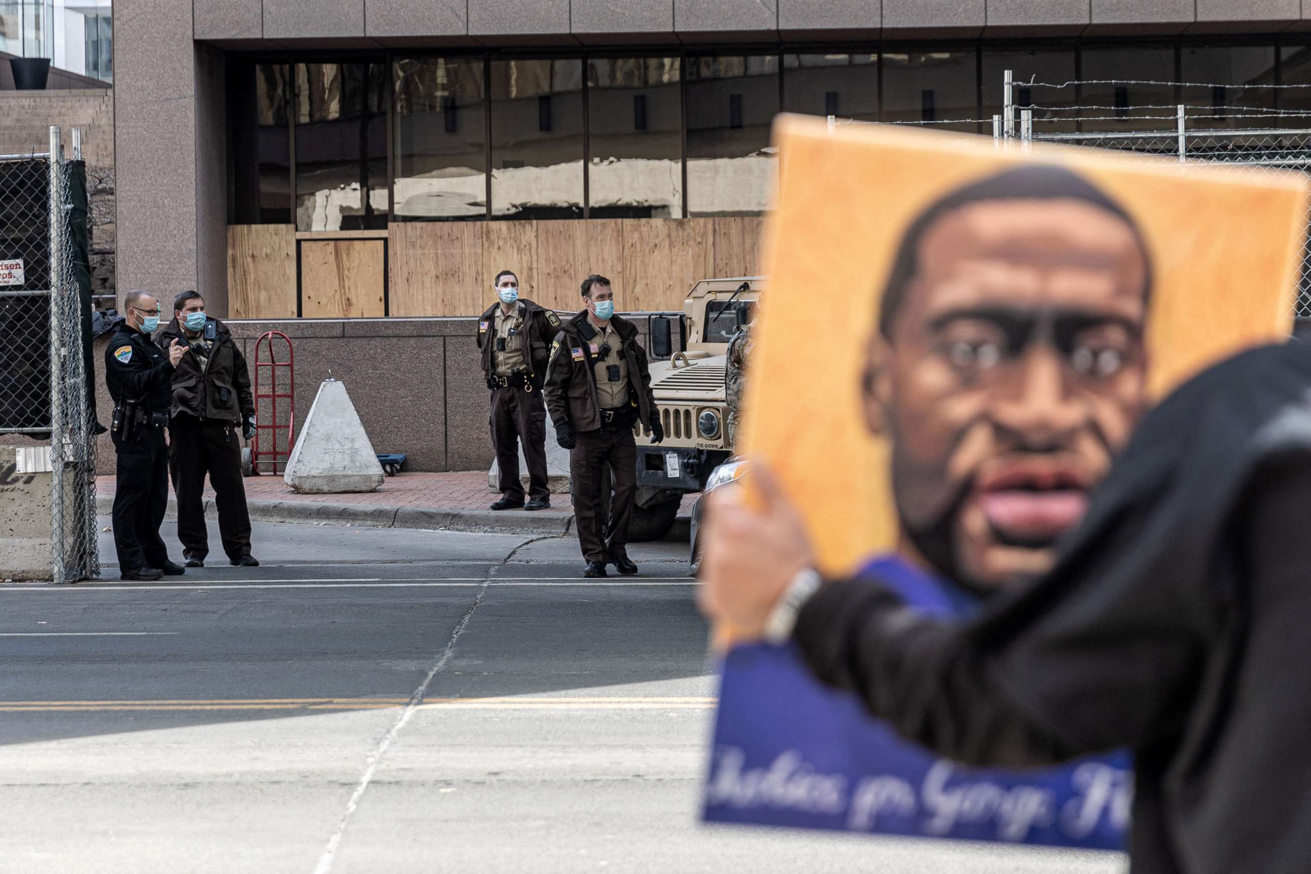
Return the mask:
<path id="1" fill-rule="evenodd" d="M 76 131 L 75 131 L 76 134 Z M 45 155 L 0 156 L 0 434 L 50 476 L 51 578 L 100 574 L 85 166 L 58 127 Z M 79 194 L 81 202 L 79 203 Z M 24 452 L 49 440 L 45 452 Z"/>

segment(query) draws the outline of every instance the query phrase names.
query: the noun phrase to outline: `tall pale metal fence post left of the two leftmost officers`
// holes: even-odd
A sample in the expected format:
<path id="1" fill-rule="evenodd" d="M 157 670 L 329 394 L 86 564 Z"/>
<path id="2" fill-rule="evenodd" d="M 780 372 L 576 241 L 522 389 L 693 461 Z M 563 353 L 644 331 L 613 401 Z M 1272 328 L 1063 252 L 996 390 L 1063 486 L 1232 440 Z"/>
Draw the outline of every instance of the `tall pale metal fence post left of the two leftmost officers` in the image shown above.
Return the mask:
<path id="1" fill-rule="evenodd" d="M 64 393 L 64 197 L 59 128 L 50 128 L 50 567 L 51 582 L 64 579 L 64 452 L 68 446 Z"/>

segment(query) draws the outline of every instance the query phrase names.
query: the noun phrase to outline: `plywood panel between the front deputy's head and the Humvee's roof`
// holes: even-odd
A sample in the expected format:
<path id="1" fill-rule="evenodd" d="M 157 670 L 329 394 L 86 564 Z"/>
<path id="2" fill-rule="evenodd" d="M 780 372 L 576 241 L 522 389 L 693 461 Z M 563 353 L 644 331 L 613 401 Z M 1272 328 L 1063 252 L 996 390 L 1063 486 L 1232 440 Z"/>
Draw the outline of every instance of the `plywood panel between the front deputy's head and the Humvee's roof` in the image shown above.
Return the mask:
<path id="1" fill-rule="evenodd" d="M 714 276 L 713 219 L 623 219 L 625 309 L 680 309 L 688 290 Z"/>

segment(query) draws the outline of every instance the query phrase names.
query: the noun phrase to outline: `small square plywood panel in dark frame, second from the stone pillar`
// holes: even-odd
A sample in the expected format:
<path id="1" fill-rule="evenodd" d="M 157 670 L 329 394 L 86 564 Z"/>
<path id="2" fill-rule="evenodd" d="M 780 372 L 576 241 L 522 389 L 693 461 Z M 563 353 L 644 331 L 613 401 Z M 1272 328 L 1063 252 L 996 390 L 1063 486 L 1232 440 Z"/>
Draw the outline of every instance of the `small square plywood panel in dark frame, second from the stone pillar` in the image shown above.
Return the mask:
<path id="1" fill-rule="evenodd" d="M 305 318 L 384 316 L 385 248 L 382 240 L 302 241 L 302 316 Z"/>

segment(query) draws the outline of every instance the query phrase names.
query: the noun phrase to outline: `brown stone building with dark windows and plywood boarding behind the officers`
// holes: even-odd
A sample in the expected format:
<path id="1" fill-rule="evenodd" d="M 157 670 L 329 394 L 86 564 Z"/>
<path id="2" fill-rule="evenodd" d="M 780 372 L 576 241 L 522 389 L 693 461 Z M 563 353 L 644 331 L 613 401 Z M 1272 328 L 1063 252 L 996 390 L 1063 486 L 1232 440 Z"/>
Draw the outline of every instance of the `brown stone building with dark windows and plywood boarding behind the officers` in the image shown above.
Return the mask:
<path id="1" fill-rule="evenodd" d="M 284 330 L 298 415 L 330 368 L 416 469 L 492 461 L 496 271 L 562 311 L 594 271 L 627 311 L 755 273 L 779 111 L 986 132 L 1004 69 L 1086 83 L 1071 130 L 1311 111 L 1272 88 L 1311 84 L 1311 0 L 119 0 L 114 29 L 119 294 Z"/>

